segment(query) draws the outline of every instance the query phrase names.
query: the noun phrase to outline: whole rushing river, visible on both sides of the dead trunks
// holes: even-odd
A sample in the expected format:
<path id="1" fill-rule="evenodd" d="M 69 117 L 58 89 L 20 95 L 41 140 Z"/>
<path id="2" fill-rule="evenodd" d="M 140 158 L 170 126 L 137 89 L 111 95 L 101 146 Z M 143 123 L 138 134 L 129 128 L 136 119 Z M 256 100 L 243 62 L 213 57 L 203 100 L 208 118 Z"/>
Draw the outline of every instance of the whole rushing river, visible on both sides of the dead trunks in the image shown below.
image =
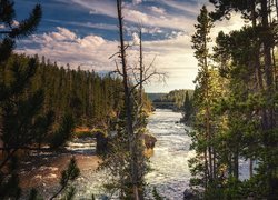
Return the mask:
<path id="1" fill-rule="evenodd" d="M 189 151 L 190 138 L 186 133 L 189 130 L 178 121 L 181 113 L 171 110 L 158 109 L 149 118 L 148 129 L 157 138 L 153 154 L 150 158 L 152 171 L 146 180 L 151 190 L 153 187 L 163 199 L 182 199 L 182 192 L 189 186 L 190 172 L 188 159 L 192 156 Z M 96 142 L 91 140 L 76 140 L 69 143 L 69 152 L 39 158 L 44 162 L 34 171 L 23 170 L 22 176 L 29 186 L 39 188 L 42 196 L 48 199 L 59 187 L 58 177 L 64 169 L 68 160 L 73 154 L 79 163 L 81 176 L 75 182 L 77 188 L 76 199 L 88 199 L 93 193 L 97 199 L 106 199 L 102 196 L 101 186 L 106 179 L 105 172 L 96 171 L 98 158 L 95 156 Z M 36 159 L 36 158 L 34 158 Z M 38 159 L 38 157 L 37 157 Z M 31 164 L 31 162 L 28 162 Z M 30 176 L 32 178 L 30 178 Z M 40 186 L 37 183 L 41 182 Z"/>

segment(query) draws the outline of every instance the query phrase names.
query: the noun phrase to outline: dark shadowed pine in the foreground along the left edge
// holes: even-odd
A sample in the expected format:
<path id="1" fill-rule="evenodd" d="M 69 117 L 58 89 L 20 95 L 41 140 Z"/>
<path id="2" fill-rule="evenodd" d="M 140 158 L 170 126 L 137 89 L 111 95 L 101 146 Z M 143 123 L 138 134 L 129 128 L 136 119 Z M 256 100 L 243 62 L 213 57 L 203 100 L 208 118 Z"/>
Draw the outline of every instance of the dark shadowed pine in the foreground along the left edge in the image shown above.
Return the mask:
<path id="1" fill-rule="evenodd" d="M 16 12 L 13 1 L 0 1 L 0 198 L 19 199 L 18 159 L 19 150 L 30 150 L 40 144 L 48 136 L 53 122 L 53 112 L 42 112 L 44 93 L 42 90 L 30 92 L 38 59 L 30 58 L 26 62 L 19 57 L 12 57 L 16 41 L 36 31 L 42 11 L 37 4 L 28 19 L 14 23 Z M 64 136 L 70 132 L 70 126 L 60 129 Z M 62 142 L 60 141 L 59 144 Z M 40 148 L 40 147 L 39 147 Z M 34 148 L 36 149 L 36 148 Z M 77 170 L 76 166 L 70 166 Z M 64 172 L 67 173 L 67 172 Z M 77 174 L 77 173 L 76 173 Z M 67 178 L 72 180 L 72 177 Z M 68 182 L 63 182 L 63 188 Z M 72 193 L 72 192 L 71 192 Z M 34 197 L 36 191 L 31 192 Z M 31 197 L 30 197 L 31 198 Z"/>

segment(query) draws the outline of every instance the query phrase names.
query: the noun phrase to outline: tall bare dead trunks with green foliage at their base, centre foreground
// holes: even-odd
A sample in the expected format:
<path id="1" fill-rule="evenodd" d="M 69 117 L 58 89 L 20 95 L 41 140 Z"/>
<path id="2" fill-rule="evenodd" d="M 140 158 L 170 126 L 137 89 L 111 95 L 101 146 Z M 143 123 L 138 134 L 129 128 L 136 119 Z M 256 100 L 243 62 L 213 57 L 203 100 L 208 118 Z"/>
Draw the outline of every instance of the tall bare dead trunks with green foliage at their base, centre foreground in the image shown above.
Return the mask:
<path id="1" fill-rule="evenodd" d="M 153 63 L 156 58 L 153 58 L 148 67 L 143 64 L 141 29 L 139 29 L 139 68 L 137 68 L 137 64 L 128 64 L 127 51 L 129 48 L 138 46 L 125 41 L 122 0 L 117 0 L 117 13 L 119 23 L 119 51 L 113 53 L 109 59 L 118 56 L 118 58 L 115 59 L 116 70 L 111 73 L 116 73 L 122 79 L 125 127 L 122 127 L 123 131 L 119 130 L 118 138 L 113 139 L 117 143 L 111 142 L 111 154 L 107 156 L 108 159 L 103 161 L 103 167 L 109 169 L 116 174 L 116 177 L 122 176 L 121 178 L 118 178 L 118 182 L 117 178 L 113 179 L 112 183 L 112 188 L 118 189 L 121 198 L 128 197 L 130 199 L 139 200 L 143 199 L 142 182 L 143 176 L 147 171 L 147 164 L 145 164 L 146 157 L 143 156 L 142 148 L 143 120 L 141 119 L 145 103 L 143 83 L 149 82 L 150 78 L 153 76 L 158 76 L 160 80 L 165 79 L 165 73 L 159 73 L 155 69 Z M 122 134 L 125 138 L 121 138 Z M 120 147 L 118 147 L 119 142 L 121 142 Z M 120 166 L 119 162 L 121 163 Z"/>

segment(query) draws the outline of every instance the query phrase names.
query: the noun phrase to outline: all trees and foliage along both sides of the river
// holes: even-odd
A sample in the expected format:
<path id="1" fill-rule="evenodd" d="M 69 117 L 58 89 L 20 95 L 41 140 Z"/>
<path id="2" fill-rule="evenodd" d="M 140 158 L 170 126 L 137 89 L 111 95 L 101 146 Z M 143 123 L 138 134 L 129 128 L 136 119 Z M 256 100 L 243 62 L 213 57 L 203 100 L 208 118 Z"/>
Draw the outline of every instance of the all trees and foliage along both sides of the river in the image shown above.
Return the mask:
<path id="1" fill-rule="evenodd" d="M 277 0 L 210 0 L 197 18 L 192 48 L 199 72 L 193 94 L 166 99 L 183 110 L 183 121 L 196 156 L 189 161 L 192 199 L 276 199 L 278 197 L 278 86 Z M 13 24 L 13 2 L 0 1 L 0 198 L 21 196 L 18 176 L 20 151 L 57 150 L 73 136 L 76 127 L 116 131 L 107 151 L 100 153 L 109 182 L 106 188 L 118 199 L 145 199 L 148 158 L 143 134 L 151 104 L 143 83 L 163 74 L 143 64 L 142 32 L 139 29 L 139 69 L 130 77 L 125 40 L 122 1 L 117 0 L 119 52 L 113 74 L 57 67 L 43 58 L 19 56 L 16 42 L 32 34 L 42 10 Z M 229 33 L 219 32 L 215 47 L 210 31 L 215 21 L 239 12 L 249 23 Z M 146 73 L 149 71 L 150 73 Z M 62 91 L 62 93 L 61 93 Z M 176 92 L 177 93 L 177 92 Z M 173 96 L 173 98 L 171 97 Z M 249 161 L 249 179 L 240 180 L 239 162 Z M 53 198 L 72 199 L 71 182 L 80 171 L 72 159 L 62 171 Z M 182 176 L 182 174 L 180 174 Z M 30 199 L 38 199 L 36 189 Z M 153 189 L 153 199 L 161 199 Z M 95 198 L 93 196 L 91 197 Z"/>

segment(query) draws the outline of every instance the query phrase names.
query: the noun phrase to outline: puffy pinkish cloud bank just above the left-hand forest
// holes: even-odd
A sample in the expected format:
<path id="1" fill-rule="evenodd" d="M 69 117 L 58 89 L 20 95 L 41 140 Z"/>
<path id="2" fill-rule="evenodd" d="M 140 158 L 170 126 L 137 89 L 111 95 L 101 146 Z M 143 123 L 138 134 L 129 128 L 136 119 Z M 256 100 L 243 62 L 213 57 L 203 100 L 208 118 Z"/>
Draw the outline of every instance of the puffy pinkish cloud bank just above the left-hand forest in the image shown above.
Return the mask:
<path id="1" fill-rule="evenodd" d="M 113 69 L 109 57 L 117 52 L 117 41 L 108 41 L 93 34 L 79 38 L 75 32 L 58 27 L 57 31 L 34 34 L 30 39 L 23 40 L 19 44 L 18 52 L 38 53 L 59 64 L 70 63 L 73 68 L 82 64 L 86 70 L 102 71 Z"/>

